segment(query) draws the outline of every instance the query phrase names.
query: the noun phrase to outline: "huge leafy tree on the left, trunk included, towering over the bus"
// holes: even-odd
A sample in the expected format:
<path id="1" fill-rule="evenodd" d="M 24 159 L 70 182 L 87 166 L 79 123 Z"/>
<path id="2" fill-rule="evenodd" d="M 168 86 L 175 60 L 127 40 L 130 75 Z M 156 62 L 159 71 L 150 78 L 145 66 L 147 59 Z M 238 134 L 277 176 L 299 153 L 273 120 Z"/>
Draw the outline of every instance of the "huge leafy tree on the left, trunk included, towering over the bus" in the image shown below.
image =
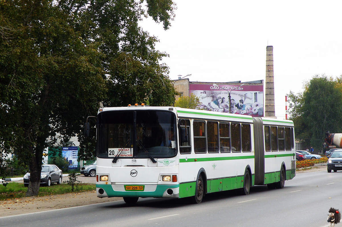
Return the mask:
<path id="1" fill-rule="evenodd" d="M 0 150 L 29 165 L 38 195 L 43 149 L 80 135 L 100 103 L 171 105 L 167 56 L 138 22 L 167 29 L 171 0 L 0 0 Z M 122 96 L 122 99 L 121 99 Z M 94 143 L 80 138 L 81 152 Z M 93 156 L 85 154 L 84 157 Z"/>

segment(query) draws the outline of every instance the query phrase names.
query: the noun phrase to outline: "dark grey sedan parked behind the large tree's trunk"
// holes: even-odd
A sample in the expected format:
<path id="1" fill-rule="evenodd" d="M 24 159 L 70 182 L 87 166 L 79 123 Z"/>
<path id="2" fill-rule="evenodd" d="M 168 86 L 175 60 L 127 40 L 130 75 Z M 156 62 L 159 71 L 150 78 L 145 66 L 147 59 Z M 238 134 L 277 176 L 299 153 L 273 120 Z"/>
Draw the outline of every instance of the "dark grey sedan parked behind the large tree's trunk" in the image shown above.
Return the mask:
<path id="1" fill-rule="evenodd" d="M 46 184 L 50 186 L 51 183 L 62 183 L 62 170 L 56 165 L 42 165 L 42 171 L 40 173 L 40 184 Z M 30 182 L 30 173 L 24 175 L 24 185 L 27 187 Z"/>

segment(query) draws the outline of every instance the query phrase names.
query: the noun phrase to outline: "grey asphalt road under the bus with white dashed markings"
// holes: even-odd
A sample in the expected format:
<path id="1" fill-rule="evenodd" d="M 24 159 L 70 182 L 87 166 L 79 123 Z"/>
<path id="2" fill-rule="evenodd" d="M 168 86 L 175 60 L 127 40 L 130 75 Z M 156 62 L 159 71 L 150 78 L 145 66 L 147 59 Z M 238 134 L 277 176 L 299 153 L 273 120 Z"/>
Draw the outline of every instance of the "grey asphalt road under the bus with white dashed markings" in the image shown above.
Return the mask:
<path id="1" fill-rule="evenodd" d="M 329 226 L 331 206 L 342 210 L 341 187 L 342 172 L 303 172 L 286 181 L 283 189 L 254 186 L 248 196 L 237 190 L 218 192 L 200 204 L 140 198 L 134 206 L 116 201 L 3 217 L 0 225 L 323 227 Z"/>

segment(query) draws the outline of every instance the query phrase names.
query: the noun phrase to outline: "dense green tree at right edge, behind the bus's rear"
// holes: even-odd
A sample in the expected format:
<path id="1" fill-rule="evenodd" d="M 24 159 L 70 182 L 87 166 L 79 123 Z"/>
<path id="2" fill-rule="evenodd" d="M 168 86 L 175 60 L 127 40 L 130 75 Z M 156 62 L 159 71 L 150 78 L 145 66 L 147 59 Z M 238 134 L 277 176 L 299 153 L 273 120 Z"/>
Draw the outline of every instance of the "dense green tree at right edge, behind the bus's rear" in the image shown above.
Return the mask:
<path id="1" fill-rule="evenodd" d="M 290 119 L 296 138 L 307 147 L 321 148 L 325 132 L 342 132 L 341 78 L 316 75 L 304 84 L 304 92 L 289 94 Z"/>

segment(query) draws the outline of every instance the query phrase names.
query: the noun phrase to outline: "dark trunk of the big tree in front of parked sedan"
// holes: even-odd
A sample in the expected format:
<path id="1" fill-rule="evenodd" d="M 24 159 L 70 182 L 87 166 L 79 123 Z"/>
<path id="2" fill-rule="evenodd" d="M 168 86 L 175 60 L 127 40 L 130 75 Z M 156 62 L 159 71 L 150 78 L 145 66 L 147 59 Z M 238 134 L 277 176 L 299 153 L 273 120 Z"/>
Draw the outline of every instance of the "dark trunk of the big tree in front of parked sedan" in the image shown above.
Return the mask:
<path id="1" fill-rule="evenodd" d="M 37 158 L 32 155 L 30 160 L 30 183 L 25 196 L 38 196 L 40 186 L 41 163 L 37 163 Z"/>

